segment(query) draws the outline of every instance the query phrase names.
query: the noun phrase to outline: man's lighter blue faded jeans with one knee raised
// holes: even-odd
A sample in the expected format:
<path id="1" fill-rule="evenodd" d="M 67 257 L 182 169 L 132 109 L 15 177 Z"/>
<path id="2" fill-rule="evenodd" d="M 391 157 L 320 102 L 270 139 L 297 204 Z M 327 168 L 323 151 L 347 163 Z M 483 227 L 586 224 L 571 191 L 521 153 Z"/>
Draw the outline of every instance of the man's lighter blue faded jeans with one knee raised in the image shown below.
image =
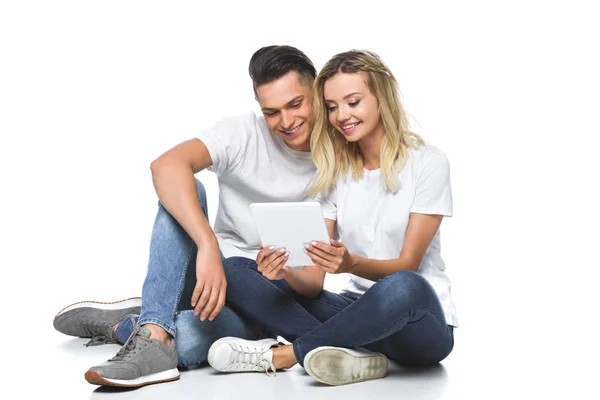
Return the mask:
<path id="1" fill-rule="evenodd" d="M 196 189 L 202 211 L 208 218 L 206 191 L 198 180 Z M 221 337 L 251 340 L 264 337 L 258 324 L 246 320 L 227 304 L 212 322 L 202 322 L 199 316 L 194 316 L 191 299 L 196 285 L 197 252 L 194 241 L 159 203 L 142 287 L 142 311 L 139 316 L 127 316 L 119 324 L 115 331 L 119 342 L 127 341 L 134 324 L 158 325 L 175 338 L 179 365 L 187 367 L 206 361 L 208 348 Z"/>

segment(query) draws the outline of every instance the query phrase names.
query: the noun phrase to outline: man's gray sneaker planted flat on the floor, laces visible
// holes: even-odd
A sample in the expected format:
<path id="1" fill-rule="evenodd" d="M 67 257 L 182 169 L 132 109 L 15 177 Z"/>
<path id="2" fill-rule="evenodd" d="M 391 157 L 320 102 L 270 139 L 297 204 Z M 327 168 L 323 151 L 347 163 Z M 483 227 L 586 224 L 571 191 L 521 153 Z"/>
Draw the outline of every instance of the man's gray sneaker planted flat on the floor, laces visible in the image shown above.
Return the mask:
<path id="1" fill-rule="evenodd" d="M 140 387 L 179 379 L 175 341 L 166 345 L 137 327 L 117 355 L 90 368 L 85 379 L 94 385 Z"/>

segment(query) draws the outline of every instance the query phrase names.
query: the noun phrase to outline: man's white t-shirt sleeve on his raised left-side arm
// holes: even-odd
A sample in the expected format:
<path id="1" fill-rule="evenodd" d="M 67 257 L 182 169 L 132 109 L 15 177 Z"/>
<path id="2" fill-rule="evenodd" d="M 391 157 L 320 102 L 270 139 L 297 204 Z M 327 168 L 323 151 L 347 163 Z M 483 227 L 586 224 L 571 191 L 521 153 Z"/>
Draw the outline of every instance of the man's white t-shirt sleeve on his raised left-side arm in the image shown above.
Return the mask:
<path id="1" fill-rule="evenodd" d="M 210 154 L 213 171 L 222 176 L 235 168 L 243 158 L 251 130 L 255 129 L 250 115 L 222 119 L 212 127 L 202 131 L 197 137 Z"/>

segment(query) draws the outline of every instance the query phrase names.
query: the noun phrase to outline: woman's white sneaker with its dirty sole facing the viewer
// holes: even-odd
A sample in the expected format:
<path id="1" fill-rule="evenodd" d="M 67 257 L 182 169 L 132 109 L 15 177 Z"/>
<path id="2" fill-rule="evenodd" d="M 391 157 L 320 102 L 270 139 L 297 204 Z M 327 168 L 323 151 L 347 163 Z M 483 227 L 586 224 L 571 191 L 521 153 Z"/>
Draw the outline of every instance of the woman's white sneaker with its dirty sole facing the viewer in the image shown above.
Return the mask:
<path id="1" fill-rule="evenodd" d="M 345 385 L 383 378 L 387 357 L 366 349 L 317 347 L 304 358 L 304 369 L 319 382 Z"/>

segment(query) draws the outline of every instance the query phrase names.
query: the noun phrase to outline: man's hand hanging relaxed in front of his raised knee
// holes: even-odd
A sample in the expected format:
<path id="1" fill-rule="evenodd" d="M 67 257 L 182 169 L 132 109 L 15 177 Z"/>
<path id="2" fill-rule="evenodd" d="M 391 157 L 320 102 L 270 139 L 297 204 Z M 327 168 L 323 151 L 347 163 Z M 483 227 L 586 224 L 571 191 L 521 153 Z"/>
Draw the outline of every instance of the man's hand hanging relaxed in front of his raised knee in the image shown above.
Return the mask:
<path id="1" fill-rule="evenodd" d="M 212 321 L 225 305 L 227 279 L 223 271 L 221 253 L 218 245 L 205 245 L 198 248 L 196 257 L 196 287 L 192 293 L 192 307 L 194 315 L 200 321 L 207 317 Z"/>

